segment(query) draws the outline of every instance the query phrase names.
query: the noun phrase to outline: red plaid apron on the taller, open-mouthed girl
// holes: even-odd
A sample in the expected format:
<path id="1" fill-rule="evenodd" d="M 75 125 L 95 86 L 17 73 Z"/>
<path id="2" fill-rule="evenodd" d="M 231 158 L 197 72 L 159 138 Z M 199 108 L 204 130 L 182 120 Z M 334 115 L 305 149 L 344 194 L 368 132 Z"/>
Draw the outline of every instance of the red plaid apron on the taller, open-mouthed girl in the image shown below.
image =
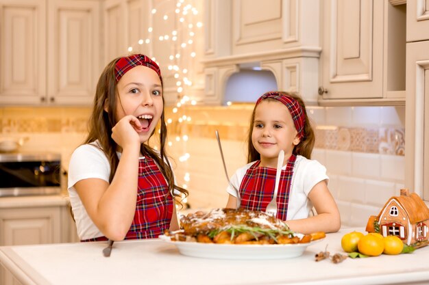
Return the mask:
<path id="1" fill-rule="evenodd" d="M 136 213 L 125 239 L 153 239 L 170 227 L 173 197 L 158 165 L 149 157 L 138 162 Z M 106 236 L 84 241 L 106 241 Z"/>

